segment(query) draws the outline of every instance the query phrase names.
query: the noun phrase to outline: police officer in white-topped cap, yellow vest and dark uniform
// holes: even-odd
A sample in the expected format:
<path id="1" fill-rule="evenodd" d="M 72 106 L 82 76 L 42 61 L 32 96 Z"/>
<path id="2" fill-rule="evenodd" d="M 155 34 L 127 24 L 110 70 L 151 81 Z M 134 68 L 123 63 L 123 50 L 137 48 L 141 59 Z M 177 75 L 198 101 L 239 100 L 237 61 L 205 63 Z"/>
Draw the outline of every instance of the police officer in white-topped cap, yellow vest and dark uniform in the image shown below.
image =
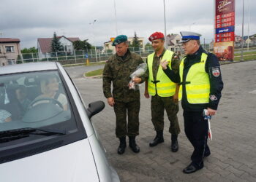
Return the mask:
<path id="1" fill-rule="evenodd" d="M 161 66 L 173 82 L 181 84 L 179 97 L 184 109 L 185 133 L 194 147 L 192 162 L 183 172 L 194 173 L 203 168 L 203 158 L 211 154 L 203 109 L 207 109 L 210 116 L 216 114 L 223 82 L 217 57 L 200 46 L 201 35 L 182 31 L 181 36 L 186 56 L 181 60 L 179 74 L 171 71 L 165 62 Z"/>

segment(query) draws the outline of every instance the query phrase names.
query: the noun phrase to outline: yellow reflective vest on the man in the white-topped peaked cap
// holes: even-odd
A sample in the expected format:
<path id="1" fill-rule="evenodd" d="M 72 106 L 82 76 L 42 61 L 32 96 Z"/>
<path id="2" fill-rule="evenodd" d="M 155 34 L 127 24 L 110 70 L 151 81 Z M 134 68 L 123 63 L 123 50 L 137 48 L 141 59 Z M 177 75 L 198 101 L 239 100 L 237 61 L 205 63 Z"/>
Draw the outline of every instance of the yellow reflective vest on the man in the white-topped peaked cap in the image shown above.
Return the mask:
<path id="1" fill-rule="evenodd" d="M 210 81 L 206 73 L 207 54 L 202 53 L 200 63 L 195 63 L 189 68 L 186 80 L 183 80 L 184 60 L 181 60 L 179 74 L 181 84 L 185 84 L 187 101 L 189 103 L 208 103 L 210 95 Z M 182 87 L 178 92 L 178 99 L 182 98 Z"/>

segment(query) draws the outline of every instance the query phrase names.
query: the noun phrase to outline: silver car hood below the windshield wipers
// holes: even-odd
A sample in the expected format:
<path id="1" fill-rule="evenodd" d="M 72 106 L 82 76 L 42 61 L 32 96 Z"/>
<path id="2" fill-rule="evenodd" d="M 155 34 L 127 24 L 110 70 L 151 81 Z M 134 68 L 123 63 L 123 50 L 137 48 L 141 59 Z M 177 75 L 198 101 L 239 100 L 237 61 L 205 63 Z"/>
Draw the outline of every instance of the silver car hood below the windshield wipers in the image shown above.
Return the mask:
<path id="1" fill-rule="evenodd" d="M 99 181 L 88 139 L 0 165 L 5 182 Z"/>

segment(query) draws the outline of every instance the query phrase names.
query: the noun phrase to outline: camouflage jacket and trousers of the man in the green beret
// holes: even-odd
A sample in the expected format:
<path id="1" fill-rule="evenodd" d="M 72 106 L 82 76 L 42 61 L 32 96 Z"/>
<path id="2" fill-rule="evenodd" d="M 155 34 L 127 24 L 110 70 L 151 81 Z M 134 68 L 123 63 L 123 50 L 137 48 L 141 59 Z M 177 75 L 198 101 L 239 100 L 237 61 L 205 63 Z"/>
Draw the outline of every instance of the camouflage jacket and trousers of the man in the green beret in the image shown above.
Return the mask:
<path id="1" fill-rule="evenodd" d="M 130 74 L 143 63 L 140 55 L 127 50 L 124 57 L 112 55 L 103 70 L 105 98 L 113 97 L 116 114 L 116 137 L 139 135 L 140 90 L 129 90 Z M 145 78 L 141 78 L 142 81 Z M 111 92 L 113 82 L 113 92 Z M 127 128 L 128 111 L 128 128 Z"/>

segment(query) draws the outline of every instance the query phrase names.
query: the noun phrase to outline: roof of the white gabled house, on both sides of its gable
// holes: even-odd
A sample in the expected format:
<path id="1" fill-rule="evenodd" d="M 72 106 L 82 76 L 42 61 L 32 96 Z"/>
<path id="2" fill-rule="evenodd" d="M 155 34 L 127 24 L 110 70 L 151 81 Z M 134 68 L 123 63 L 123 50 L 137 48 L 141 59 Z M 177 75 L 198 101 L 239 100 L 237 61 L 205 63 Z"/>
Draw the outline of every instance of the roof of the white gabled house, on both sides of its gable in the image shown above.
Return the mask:
<path id="1" fill-rule="evenodd" d="M 64 37 L 65 39 L 68 39 L 69 41 L 78 41 L 80 40 L 78 37 L 66 37 L 66 36 L 57 36 L 58 39 L 61 39 L 61 37 Z M 41 52 L 50 52 L 51 51 L 51 41 L 53 38 L 38 38 L 37 42 L 39 44 L 39 47 L 41 49 Z"/>

